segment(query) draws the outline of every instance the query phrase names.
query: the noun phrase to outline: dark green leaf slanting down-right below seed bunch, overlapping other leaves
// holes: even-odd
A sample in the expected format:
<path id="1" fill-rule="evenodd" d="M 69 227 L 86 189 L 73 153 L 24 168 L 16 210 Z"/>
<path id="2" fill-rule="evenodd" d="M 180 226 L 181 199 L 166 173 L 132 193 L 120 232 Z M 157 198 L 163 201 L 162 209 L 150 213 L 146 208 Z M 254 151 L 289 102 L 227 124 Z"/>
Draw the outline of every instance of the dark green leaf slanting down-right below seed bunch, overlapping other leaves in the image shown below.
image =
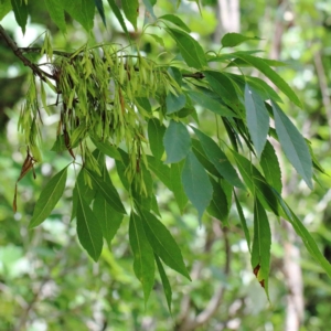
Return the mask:
<path id="1" fill-rule="evenodd" d="M 96 190 L 103 194 L 107 203 L 118 213 L 126 214 L 126 210 L 120 201 L 118 192 L 116 191 L 115 186 L 110 182 L 110 178 L 109 181 L 106 182 L 89 169 L 84 168 L 84 171 L 88 173 L 88 175 L 92 179 L 92 183 L 94 188 L 96 188 Z"/>

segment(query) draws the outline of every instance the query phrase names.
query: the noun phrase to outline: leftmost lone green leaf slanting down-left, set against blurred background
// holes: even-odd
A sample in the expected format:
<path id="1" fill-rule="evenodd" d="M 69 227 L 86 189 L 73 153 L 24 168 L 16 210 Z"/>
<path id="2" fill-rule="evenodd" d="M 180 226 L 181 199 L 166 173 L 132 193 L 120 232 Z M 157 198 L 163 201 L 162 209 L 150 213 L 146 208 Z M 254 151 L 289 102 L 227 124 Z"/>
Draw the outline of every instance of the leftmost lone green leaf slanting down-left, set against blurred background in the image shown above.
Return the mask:
<path id="1" fill-rule="evenodd" d="M 66 182 L 67 167 L 57 172 L 42 190 L 36 201 L 29 228 L 40 225 L 51 214 L 60 197 L 63 195 Z"/>

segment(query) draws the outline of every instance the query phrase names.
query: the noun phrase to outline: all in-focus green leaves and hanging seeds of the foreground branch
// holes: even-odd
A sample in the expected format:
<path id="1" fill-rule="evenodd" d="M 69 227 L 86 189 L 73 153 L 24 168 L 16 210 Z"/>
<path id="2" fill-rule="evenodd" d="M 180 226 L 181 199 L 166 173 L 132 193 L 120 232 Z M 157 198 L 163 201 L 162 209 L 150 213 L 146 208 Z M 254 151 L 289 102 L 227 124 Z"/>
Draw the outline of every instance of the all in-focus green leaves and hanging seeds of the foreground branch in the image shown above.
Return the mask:
<path id="1" fill-rule="evenodd" d="M 146 302 L 156 284 L 156 264 L 169 310 L 172 289 L 162 263 L 191 279 L 180 245 L 156 216 L 160 212 L 154 177 L 173 193 L 181 213 L 188 200 L 191 201 L 197 210 L 200 224 L 206 211 L 227 226 L 234 195 L 252 252 L 253 271 L 267 296 L 271 245 L 267 211 L 289 221 L 309 253 L 331 275 L 331 267 L 313 238 L 280 196 L 281 172 L 270 138 L 280 142 L 285 154 L 310 189 L 314 175 L 312 150 L 277 104 L 281 99 L 270 86 L 241 70 L 233 73 L 234 67 L 257 68 L 300 107 L 298 96 L 271 68 L 281 63 L 255 56 L 255 51 L 222 53 L 221 49 L 210 55 L 189 34 L 189 26 L 178 15 L 156 18 L 154 1 L 145 0 L 143 3 L 153 19 L 143 28 L 143 33 L 148 35 L 148 29 L 153 26 L 162 29 L 180 52 L 171 65 L 145 56 L 139 42 L 130 40 L 120 10 L 138 30 L 137 0 L 121 1 L 121 8 L 108 0 L 129 46 L 86 43 L 67 53 L 53 50 L 51 38 L 45 33 L 43 46 L 31 49 L 31 52 L 46 55 L 51 73 L 44 70 L 44 64 L 36 65 L 38 62 L 24 57 L 26 50 L 14 49 L 1 30 L 9 47 L 31 70 L 25 104 L 19 118 L 19 129 L 26 147 L 19 180 L 41 162 L 43 120 L 40 108 L 50 108 L 45 83 L 56 97 L 54 108 L 60 114 L 52 150 L 67 151 L 74 166 L 81 168 L 72 197 L 72 220 L 76 218 L 79 243 L 97 261 L 104 239 L 110 246 L 117 233 L 124 231 L 122 220 L 128 211 L 134 270 L 141 282 Z M 90 34 L 96 10 L 105 25 L 107 22 L 102 1 L 46 0 L 45 4 L 62 33 L 66 32 L 64 13 Z M 8 1 L 1 2 L 0 17 L 4 17 L 9 8 Z M 26 3 L 11 1 L 11 8 L 24 32 L 29 14 Z M 222 46 L 233 47 L 249 40 L 258 38 L 228 33 L 223 36 Z M 211 62 L 217 66 L 211 68 Z M 215 118 L 216 137 L 203 132 L 199 124 L 204 110 Z M 269 127 L 270 117 L 275 120 L 276 131 Z M 227 137 L 221 137 L 221 126 Z M 116 163 L 111 177 L 105 156 Z M 321 171 L 320 167 L 316 168 Z M 41 192 L 30 227 L 46 220 L 60 201 L 67 169 L 65 167 L 55 174 Z M 115 184 L 114 177 L 119 178 L 122 186 Z M 255 199 L 252 245 L 234 186 L 243 191 L 247 188 Z"/>

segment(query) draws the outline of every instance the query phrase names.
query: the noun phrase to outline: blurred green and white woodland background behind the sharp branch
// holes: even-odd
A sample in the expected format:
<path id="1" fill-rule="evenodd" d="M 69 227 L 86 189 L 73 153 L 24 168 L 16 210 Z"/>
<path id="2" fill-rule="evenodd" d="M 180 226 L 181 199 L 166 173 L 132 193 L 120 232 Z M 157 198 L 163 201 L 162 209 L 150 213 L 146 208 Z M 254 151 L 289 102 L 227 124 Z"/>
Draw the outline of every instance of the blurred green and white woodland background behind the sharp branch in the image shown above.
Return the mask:
<path id="1" fill-rule="evenodd" d="M 191 28 L 205 50 L 218 50 L 226 32 L 257 35 L 263 40 L 247 43 L 242 50 L 261 50 L 261 56 L 284 61 L 279 74 L 296 89 L 305 108 L 291 104 L 287 114 L 311 140 L 311 148 L 328 173 L 331 173 L 331 3 L 328 0 L 204 0 L 202 17 L 194 1 L 158 0 L 156 14 L 177 12 Z M 24 38 L 10 14 L 1 24 L 20 46 L 40 45 L 46 29 L 52 32 L 54 49 L 72 51 L 88 36 L 76 22 L 67 22 L 67 35 L 61 34 L 43 8 L 43 1 L 29 1 L 34 13 Z M 108 10 L 108 7 L 105 7 Z M 113 14 L 107 11 L 107 29 L 95 20 L 95 40 L 117 42 L 126 38 Z M 141 29 L 143 12 L 140 12 Z M 160 29 L 151 28 L 140 36 L 140 49 L 158 61 L 170 61 L 174 42 Z M 52 215 L 41 226 L 28 231 L 34 203 L 47 180 L 71 160 L 64 152 L 50 151 L 57 118 L 44 116 L 43 163 L 36 179 L 26 175 L 19 183 L 18 213 L 12 212 L 14 184 L 23 156 L 17 120 L 24 93 L 28 68 L 19 63 L 0 40 L 0 330 L 328 330 L 330 323 L 331 281 L 308 256 L 288 225 L 273 220 L 270 303 L 250 268 L 247 245 L 235 206 L 228 226 L 204 216 L 202 227 L 190 205 L 180 215 L 170 192 L 158 185 L 162 221 L 182 248 L 193 278 L 167 269 L 173 289 L 172 316 L 168 312 L 161 282 L 145 307 L 142 290 L 132 271 L 128 245 L 128 220 L 103 250 L 98 264 L 81 249 L 75 224 L 70 222 L 71 195 L 75 169 L 70 169 L 67 188 Z M 257 73 L 252 73 L 257 75 Z M 55 100 L 50 96 L 49 103 Z M 201 109 L 201 125 L 209 134 L 215 130 L 213 117 Z M 279 154 L 280 157 L 280 154 Z M 318 178 L 320 185 L 310 192 L 287 160 L 282 160 L 284 184 L 289 205 L 313 234 L 320 249 L 331 261 L 331 178 Z M 109 163 L 111 167 L 111 163 Z M 117 181 L 120 186 L 120 181 Z M 244 213 L 253 223 L 252 196 Z M 252 228 L 250 228 L 252 229 Z M 203 325 L 193 325 L 217 302 Z M 190 329 L 191 328 L 191 329 Z"/>

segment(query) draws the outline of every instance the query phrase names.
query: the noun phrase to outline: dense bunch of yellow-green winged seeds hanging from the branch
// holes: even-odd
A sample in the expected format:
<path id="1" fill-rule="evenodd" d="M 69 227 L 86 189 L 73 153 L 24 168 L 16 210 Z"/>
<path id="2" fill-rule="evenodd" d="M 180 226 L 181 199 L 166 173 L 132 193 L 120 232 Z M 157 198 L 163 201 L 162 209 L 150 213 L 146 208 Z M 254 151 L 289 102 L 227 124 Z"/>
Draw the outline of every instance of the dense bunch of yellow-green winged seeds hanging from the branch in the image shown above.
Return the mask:
<path id="1" fill-rule="evenodd" d="M 115 147 L 125 143 L 130 156 L 127 178 L 129 182 L 136 178 L 145 191 L 140 163 L 147 167 L 142 143 L 148 142 L 145 124 L 152 114 L 141 100 L 152 97 L 162 105 L 167 93 L 175 94 L 180 86 L 167 70 L 139 53 L 130 55 L 114 45 L 84 46 L 73 54 L 56 52 L 58 55 L 53 60 L 53 50 L 46 40 L 42 52 L 51 63 L 54 84 L 49 77 L 41 79 L 41 104 L 47 111 L 43 86 L 46 83 L 57 94 L 56 105 L 61 111 L 53 150 L 67 149 L 74 159 L 79 153 L 83 162 L 98 171 L 86 138 L 94 142 L 107 141 Z M 41 137 L 42 118 L 36 96 L 35 75 L 32 74 L 19 128 L 32 157 L 40 161 L 36 141 Z"/>

